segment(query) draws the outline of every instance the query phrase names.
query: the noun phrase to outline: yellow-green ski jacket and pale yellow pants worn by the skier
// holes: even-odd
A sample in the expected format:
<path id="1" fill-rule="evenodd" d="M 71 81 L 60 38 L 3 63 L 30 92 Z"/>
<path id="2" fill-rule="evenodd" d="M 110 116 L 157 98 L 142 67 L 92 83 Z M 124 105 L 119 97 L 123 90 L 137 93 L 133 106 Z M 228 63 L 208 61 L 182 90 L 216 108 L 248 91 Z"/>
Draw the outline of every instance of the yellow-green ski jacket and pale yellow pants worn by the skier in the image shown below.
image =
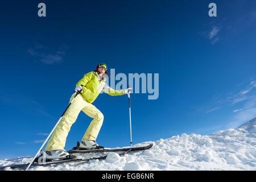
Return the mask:
<path id="1" fill-rule="evenodd" d="M 49 139 L 44 151 L 64 150 L 69 130 L 71 129 L 72 124 L 75 123 L 81 110 L 89 117 L 93 118 L 84 137 L 82 137 L 82 140 L 96 140 L 104 120 L 104 115 L 92 105 L 92 102 L 96 100 L 101 90 L 108 93 L 110 96 L 121 96 L 125 94 L 125 90 L 114 90 L 110 88 L 105 83 L 105 78 L 102 77 L 101 79 L 96 71 L 86 73 L 84 77 L 77 82 L 76 86 L 78 85 L 84 85 L 81 94 L 77 95 L 75 100 L 73 100 L 72 104 L 69 106 Z M 71 96 L 70 101 L 73 97 L 75 97 L 75 94 Z"/>

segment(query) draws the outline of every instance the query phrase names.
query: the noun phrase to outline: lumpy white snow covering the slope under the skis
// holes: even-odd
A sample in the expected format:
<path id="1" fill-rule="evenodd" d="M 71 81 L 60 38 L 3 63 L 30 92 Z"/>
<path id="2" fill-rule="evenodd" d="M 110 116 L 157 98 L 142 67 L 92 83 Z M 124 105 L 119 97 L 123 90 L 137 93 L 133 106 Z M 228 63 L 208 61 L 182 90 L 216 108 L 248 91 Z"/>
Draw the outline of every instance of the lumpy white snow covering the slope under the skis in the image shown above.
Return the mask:
<path id="1" fill-rule="evenodd" d="M 155 142 L 143 142 L 134 147 L 153 143 L 149 150 L 129 152 L 123 156 L 109 153 L 105 160 L 90 160 L 58 166 L 31 167 L 32 171 L 82 170 L 256 170 L 256 118 L 238 129 L 218 131 L 210 135 L 181 134 Z M 90 158 L 105 154 L 76 154 Z M 0 166 L 26 164 L 32 157 L 0 160 Z M 22 170 L 5 168 L 4 170 Z"/>

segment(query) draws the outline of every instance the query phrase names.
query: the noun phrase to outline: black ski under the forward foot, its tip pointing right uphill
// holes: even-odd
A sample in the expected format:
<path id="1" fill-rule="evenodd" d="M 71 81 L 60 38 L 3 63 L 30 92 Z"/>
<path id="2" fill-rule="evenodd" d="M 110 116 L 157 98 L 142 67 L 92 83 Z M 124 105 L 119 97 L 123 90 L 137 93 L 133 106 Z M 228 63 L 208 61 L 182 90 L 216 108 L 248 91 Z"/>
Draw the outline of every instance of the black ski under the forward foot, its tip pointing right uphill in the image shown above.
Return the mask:
<path id="1" fill-rule="evenodd" d="M 151 148 L 153 144 L 148 144 L 147 146 L 142 146 L 142 147 L 126 147 L 126 148 L 100 148 L 100 149 L 94 149 L 94 150 L 69 150 L 67 151 L 69 154 L 74 154 L 74 153 L 99 153 L 99 152 L 122 152 L 122 151 L 138 151 L 138 150 L 147 150 Z M 76 148 L 76 147 L 74 147 Z"/>

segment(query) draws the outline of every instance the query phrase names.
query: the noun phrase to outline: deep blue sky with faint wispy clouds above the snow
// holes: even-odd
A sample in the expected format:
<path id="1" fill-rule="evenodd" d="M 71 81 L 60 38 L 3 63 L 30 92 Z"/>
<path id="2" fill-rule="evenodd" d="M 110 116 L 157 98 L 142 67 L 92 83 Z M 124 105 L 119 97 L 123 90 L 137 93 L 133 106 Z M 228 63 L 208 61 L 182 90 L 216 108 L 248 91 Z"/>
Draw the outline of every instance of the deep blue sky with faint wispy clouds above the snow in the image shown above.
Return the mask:
<path id="1" fill-rule="evenodd" d="M 35 155 L 85 73 L 159 73 L 159 97 L 131 94 L 133 142 L 206 135 L 256 116 L 256 2 L 2 1 L 0 159 Z M 116 81 L 115 83 L 117 83 Z M 97 142 L 129 146 L 127 95 L 100 94 Z M 80 113 L 66 150 L 92 119 Z"/>

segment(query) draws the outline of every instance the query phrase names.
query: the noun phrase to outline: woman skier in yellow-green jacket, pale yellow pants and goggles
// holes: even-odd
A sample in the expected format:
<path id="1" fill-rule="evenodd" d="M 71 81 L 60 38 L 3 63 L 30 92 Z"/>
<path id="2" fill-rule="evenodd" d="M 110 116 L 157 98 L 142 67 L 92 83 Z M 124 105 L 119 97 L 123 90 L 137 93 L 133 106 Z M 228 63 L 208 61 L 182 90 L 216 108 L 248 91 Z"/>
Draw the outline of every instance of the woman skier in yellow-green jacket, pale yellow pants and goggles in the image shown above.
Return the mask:
<path id="1" fill-rule="evenodd" d="M 82 79 L 77 82 L 75 92 L 80 92 L 68 110 L 64 114 L 60 123 L 57 125 L 51 138 L 49 139 L 43 155 L 46 159 L 64 159 L 69 153 L 64 150 L 66 138 L 68 132 L 71 129 L 73 123 L 75 123 L 80 111 L 84 111 L 89 117 L 93 118 L 88 129 L 86 130 L 84 137 L 82 137 L 79 150 L 90 150 L 96 148 L 104 148 L 96 143 L 98 133 L 101 129 L 104 115 L 98 110 L 92 102 L 96 100 L 101 90 L 108 93 L 110 96 L 121 96 L 131 92 L 131 88 L 125 90 L 114 90 L 105 83 L 104 75 L 110 77 L 106 72 L 107 65 L 100 63 L 93 72 L 86 73 Z M 75 96 L 75 93 L 71 96 L 70 101 Z"/>

